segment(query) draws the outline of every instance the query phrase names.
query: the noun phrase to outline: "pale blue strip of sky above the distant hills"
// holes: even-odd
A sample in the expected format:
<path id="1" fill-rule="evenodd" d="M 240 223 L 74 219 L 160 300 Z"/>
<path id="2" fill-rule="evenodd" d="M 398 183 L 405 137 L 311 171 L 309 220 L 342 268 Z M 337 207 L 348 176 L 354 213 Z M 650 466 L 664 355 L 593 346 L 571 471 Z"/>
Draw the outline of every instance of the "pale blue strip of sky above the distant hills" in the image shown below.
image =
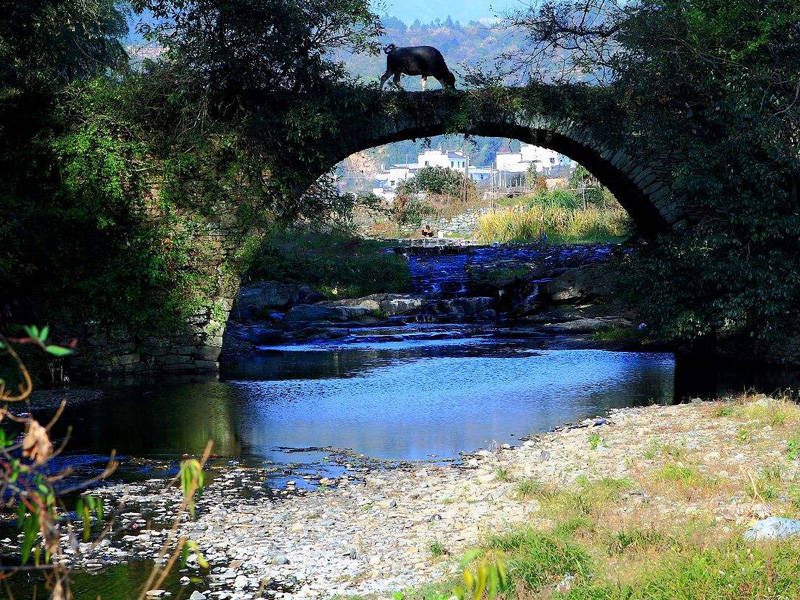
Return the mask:
<path id="1" fill-rule="evenodd" d="M 448 16 L 454 21 L 468 23 L 480 19 L 492 18 L 508 9 L 517 8 L 523 0 L 373 0 L 375 8 L 397 17 L 410 25 L 416 19 L 422 23 Z"/>

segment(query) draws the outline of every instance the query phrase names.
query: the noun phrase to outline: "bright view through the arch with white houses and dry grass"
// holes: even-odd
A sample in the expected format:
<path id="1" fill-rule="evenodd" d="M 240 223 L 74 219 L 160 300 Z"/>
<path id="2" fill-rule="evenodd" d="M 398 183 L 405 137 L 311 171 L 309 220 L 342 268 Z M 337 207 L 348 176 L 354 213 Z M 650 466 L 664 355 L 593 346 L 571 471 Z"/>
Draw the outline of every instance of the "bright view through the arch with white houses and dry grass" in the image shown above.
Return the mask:
<path id="1" fill-rule="evenodd" d="M 598 176 L 598 162 L 589 153 L 576 151 L 568 140 L 545 139 L 541 131 L 512 133 L 516 135 L 448 134 L 368 147 L 337 163 L 337 187 L 341 193 L 367 196 L 373 207 L 377 204 L 384 209 L 382 216 L 376 217 L 383 220 L 372 228 L 365 226 L 370 211 L 356 211 L 357 228 L 368 237 L 419 237 L 423 233 L 419 229 L 425 227 L 433 228 L 428 235 L 510 241 L 509 230 L 515 230 L 517 223 L 503 223 L 503 215 L 497 214 L 498 220 L 492 224 L 487 213 L 505 213 L 508 219 L 507 213 L 514 209 L 548 220 L 538 227 L 538 236 L 515 236 L 515 241 L 533 241 L 545 229 L 548 238 L 564 242 L 611 241 L 638 232 L 639 222 L 651 217 L 646 209 L 637 212 L 647 206 L 639 198 L 628 195 L 624 196 L 627 205 L 619 202 L 618 194 L 628 192 L 624 179 L 610 170 L 601 170 Z M 556 148 L 566 149 L 572 156 Z M 574 160 L 575 156 L 582 162 Z M 440 172 L 437 175 L 432 170 Z M 562 210 L 548 212 L 546 208 Z M 415 220 L 405 218 L 403 210 L 408 209 L 416 211 Z M 575 216 L 577 212 L 581 214 Z M 477 227 L 478 217 L 486 227 Z M 568 228 L 565 220 L 577 221 L 578 217 L 580 224 Z M 520 221 L 524 219 L 517 219 Z M 554 231 L 553 221 L 562 222 L 562 230 L 556 227 Z M 416 229 L 409 227 L 414 224 Z M 581 236 L 578 229 L 586 233 Z"/>

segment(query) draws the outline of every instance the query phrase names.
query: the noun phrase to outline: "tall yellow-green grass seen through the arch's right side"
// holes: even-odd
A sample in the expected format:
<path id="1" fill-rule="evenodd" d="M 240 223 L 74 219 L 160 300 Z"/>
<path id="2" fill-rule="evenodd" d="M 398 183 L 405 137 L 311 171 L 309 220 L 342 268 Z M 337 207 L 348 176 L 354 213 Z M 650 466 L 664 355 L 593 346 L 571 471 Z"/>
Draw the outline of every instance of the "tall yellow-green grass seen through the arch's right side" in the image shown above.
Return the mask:
<path id="1" fill-rule="evenodd" d="M 526 242 L 545 235 L 554 242 L 599 242 L 625 236 L 629 222 L 622 209 L 532 205 L 525 210 L 484 215 L 478 221 L 477 233 L 484 242 Z"/>

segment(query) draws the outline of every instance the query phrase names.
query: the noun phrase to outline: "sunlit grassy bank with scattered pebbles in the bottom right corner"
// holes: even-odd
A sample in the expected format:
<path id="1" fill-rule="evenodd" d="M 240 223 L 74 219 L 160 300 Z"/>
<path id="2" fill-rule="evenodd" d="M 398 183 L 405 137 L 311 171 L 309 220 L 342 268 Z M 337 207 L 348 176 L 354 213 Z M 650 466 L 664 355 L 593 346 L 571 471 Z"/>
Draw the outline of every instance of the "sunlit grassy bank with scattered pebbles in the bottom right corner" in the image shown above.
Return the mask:
<path id="1" fill-rule="evenodd" d="M 794 402 L 652 407 L 611 427 L 548 435 L 541 447 L 563 461 L 561 475 L 530 462 L 494 474 L 528 515 L 482 545 L 507 566 L 502 598 L 800 597 L 800 540 L 742 537 L 758 519 L 800 517 Z M 456 583 L 406 597 L 441 600 Z"/>

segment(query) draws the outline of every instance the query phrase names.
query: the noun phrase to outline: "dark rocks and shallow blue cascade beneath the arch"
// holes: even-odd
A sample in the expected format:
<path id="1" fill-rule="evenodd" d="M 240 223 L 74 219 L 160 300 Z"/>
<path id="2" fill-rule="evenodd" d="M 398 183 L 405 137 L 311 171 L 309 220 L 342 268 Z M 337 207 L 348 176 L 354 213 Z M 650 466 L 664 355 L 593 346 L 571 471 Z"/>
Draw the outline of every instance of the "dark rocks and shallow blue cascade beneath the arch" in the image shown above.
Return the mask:
<path id="1" fill-rule="evenodd" d="M 604 263 L 621 252 L 613 246 L 428 250 L 409 255 L 413 292 L 408 294 L 325 301 L 302 284 L 243 286 L 225 332 L 223 364 L 235 364 L 263 346 L 346 344 L 383 334 L 425 339 L 431 325 L 458 326 L 448 335 L 465 338 L 540 337 L 542 348 L 564 347 L 564 336 L 573 337 L 567 346 L 653 348 L 610 284 Z"/>

